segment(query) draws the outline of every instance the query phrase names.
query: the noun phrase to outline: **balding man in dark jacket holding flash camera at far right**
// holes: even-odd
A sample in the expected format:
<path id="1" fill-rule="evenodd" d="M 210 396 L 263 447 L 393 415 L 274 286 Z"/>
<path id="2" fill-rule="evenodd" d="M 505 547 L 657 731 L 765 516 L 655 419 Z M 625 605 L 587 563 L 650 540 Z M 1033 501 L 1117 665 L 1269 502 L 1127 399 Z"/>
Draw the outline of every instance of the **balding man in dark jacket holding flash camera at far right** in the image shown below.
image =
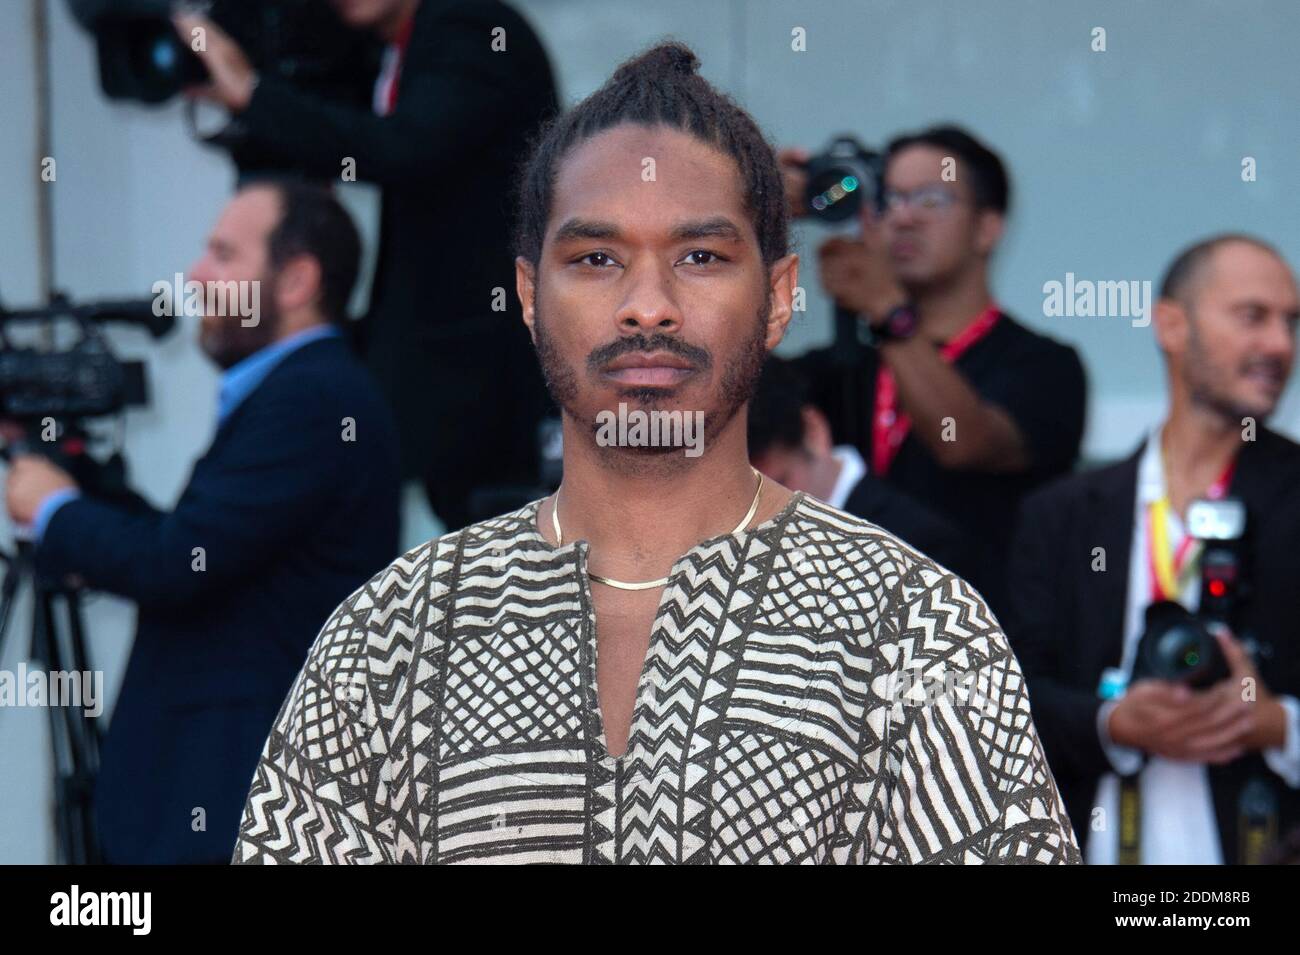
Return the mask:
<path id="1" fill-rule="evenodd" d="M 1089 863 L 1260 861 L 1300 824 L 1300 446 L 1262 425 L 1297 318 L 1268 244 L 1182 252 L 1153 322 L 1169 416 L 1024 504 L 1008 633 Z"/>

